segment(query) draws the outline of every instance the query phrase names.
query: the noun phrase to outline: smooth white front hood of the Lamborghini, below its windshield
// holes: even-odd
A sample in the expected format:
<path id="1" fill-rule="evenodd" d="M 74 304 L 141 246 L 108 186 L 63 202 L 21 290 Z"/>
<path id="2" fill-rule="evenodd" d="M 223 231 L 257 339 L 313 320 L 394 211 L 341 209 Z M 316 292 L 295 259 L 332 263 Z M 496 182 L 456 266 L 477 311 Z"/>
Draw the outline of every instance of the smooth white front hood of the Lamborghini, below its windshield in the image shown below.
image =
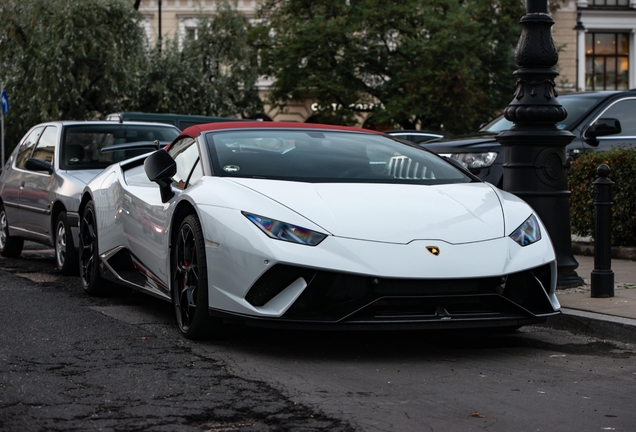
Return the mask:
<path id="1" fill-rule="evenodd" d="M 497 193 L 485 183 L 441 186 L 232 179 L 334 236 L 406 244 L 471 243 L 504 235 Z M 263 215 L 274 217 L 274 215 Z"/>

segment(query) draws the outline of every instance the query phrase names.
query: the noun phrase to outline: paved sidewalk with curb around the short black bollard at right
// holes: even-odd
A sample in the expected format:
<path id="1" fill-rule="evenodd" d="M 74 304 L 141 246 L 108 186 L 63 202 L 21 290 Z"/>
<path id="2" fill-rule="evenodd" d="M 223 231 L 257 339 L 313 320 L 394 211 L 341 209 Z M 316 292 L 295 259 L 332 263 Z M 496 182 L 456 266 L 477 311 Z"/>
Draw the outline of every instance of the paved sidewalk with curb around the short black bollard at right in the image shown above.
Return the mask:
<path id="1" fill-rule="evenodd" d="M 614 297 L 592 298 L 590 275 L 594 257 L 575 256 L 585 285 L 557 290 L 562 314 L 544 325 L 601 339 L 636 343 L 636 261 L 612 259 Z"/>

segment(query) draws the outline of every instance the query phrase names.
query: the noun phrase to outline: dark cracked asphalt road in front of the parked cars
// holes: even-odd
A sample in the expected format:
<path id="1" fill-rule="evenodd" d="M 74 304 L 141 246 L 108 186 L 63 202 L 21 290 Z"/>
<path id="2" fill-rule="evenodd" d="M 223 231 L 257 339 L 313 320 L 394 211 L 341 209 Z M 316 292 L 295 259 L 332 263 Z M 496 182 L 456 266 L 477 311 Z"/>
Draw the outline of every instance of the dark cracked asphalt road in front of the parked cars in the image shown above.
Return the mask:
<path id="1" fill-rule="evenodd" d="M 27 279 L 30 278 L 30 279 Z M 633 346 L 491 333 L 236 328 L 81 293 L 46 255 L 0 260 L 2 431 L 631 431 Z"/>

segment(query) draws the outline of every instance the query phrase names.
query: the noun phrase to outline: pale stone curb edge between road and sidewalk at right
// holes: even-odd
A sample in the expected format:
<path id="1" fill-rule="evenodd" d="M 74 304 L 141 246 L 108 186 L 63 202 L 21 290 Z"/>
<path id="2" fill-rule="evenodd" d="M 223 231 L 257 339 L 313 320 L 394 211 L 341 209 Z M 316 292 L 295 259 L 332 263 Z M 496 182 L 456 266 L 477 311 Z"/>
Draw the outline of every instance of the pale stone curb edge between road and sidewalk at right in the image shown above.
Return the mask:
<path id="1" fill-rule="evenodd" d="M 561 308 L 561 314 L 548 318 L 548 321 L 540 326 L 598 339 L 636 344 L 636 320 L 630 318 Z"/>

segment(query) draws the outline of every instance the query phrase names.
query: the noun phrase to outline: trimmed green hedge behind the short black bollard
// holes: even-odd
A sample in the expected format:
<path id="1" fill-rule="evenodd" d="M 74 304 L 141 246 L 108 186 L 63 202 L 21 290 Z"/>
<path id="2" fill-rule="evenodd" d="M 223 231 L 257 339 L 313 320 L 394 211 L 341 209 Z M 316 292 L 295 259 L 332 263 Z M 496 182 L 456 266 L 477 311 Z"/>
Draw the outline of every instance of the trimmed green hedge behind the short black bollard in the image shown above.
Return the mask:
<path id="1" fill-rule="evenodd" d="M 587 152 L 572 161 L 568 173 L 573 234 L 594 236 L 594 181 L 601 164 L 610 167 L 612 185 L 612 245 L 636 245 L 636 149 Z"/>

